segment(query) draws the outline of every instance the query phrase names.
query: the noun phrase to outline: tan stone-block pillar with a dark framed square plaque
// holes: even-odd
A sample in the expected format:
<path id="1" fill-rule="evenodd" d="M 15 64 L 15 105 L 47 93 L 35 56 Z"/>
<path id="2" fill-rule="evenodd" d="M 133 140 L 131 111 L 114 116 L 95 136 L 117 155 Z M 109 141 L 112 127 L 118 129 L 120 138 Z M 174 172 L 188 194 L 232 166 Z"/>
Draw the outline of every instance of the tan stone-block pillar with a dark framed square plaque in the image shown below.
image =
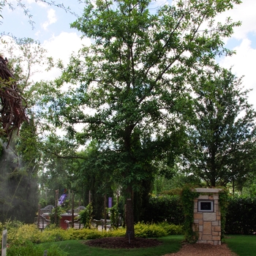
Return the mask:
<path id="1" fill-rule="evenodd" d="M 197 244 L 220 245 L 221 214 L 219 191 L 222 189 L 195 189 L 200 196 L 194 200 L 194 230 L 198 232 Z"/>

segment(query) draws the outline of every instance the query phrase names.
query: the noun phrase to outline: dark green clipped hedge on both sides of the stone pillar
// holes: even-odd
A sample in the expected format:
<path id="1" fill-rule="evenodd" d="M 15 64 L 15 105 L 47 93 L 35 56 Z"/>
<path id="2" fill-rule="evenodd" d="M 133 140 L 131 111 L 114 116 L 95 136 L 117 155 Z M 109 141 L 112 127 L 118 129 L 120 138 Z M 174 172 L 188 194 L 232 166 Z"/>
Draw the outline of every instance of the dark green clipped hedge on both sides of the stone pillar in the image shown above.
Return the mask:
<path id="1" fill-rule="evenodd" d="M 144 222 L 167 222 L 184 225 L 181 199 L 176 196 L 151 197 Z M 252 234 L 256 232 L 256 198 L 228 197 L 225 233 Z"/>

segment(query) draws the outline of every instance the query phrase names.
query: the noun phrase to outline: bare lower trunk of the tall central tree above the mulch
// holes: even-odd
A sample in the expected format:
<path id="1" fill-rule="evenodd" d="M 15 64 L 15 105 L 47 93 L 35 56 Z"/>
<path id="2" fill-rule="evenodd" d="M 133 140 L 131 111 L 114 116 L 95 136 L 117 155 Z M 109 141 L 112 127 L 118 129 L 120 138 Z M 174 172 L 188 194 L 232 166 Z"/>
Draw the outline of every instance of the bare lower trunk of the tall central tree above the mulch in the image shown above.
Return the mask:
<path id="1" fill-rule="evenodd" d="M 129 187 L 127 189 L 129 192 L 129 197 L 127 198 L 127 207 L 125 211 L 125 223 L 127 225 L 127 233 L 125 235 L 126 238 L 134 239 L 135 238 L 135 227 L 134 227 L 134 220 L 133 220 L 133 202 L 132 202 L 132 188 Z"/>

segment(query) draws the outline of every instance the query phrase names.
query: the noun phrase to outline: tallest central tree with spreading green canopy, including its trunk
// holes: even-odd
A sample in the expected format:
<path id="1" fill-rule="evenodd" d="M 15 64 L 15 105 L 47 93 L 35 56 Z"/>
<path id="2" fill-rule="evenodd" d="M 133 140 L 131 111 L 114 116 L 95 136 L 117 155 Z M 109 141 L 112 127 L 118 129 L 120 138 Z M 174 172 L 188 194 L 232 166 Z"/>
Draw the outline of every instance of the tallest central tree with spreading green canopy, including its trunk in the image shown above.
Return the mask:
<path id="1" fill-rule="evenodd" d="M 113 175 L 126 190 L 127 237 L 134 238 L 132 195 L 150 181 L 154 160 L 174 163 L 191 107 L 185 84 L 217 54 L 231 54 L 222 39 L 233 23 L 214 17 L 241 1 L 176 1 L 149 11 L 151 1 L 86 1 L 72 24 L 93 40 L 72 56 L 51 94 L 50 121 L 80 143 L 95 139 L 115 154 Z M 48 97 L 49 99 L 49 97 Z M 83 124 L 78 132 L 76 124 Z"/>

